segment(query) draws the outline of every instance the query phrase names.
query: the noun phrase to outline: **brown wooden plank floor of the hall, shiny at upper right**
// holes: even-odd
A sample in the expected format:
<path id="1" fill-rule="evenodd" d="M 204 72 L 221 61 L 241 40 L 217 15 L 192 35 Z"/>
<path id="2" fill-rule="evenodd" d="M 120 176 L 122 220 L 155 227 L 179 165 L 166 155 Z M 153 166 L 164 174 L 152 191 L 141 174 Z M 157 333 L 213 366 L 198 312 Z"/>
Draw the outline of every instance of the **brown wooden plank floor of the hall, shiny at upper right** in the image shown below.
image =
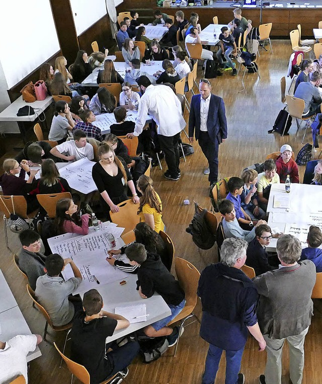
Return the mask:
<path id="1" fill-rule="evenodd" d="M 278 151 L 280 146 L 288 143 L 295 153 L 302 147 L 300 144 L 303 129 L 296 133 L 296 123 L 290 130 L 289 137 L 281 138 L 280 135 L 268 135 L 275 118 L 282 108 L 280 101 L 280 78 L 286 75 L 288 59 L 291 54 L 289 41 L 272 42 L 274 54 L 261 51 L 258 60 L 261 80 L 256 74 L 245 75 L 245 88 L 238 77 L 231 77 L 225 72 L 220 78 L 213 79 L 213 93 L 223 97 L 228 120 L 228 139 L 220 145 L 219 175 L 238 176 L 240 171 L 251 164 L 262 162 L 267 154 Z M 201 69 L 199 69 L 201 75 Z M 289 79 L 288 79 L 289 84 Z M 287 86 L 288 88 L 288 86 Z M 187 117 L 187 116 L 186 116 Z M 183 137 L 184 141 L 185 138 Z M 307 141 L 311 142 L 307 135 Z M 18 146 L 15 141 L 13 146 Z M 167 233 L 174 241 L 176 255 L 192 262 L 201 272 L 205 266 L 217 261 L 215 247 L 208 251 L 198 251 L 193 244 L 191 236 L 185 229 L 193 216 L 193 201 L 201 206 L 210 208 L 208 198 L 209 184 L 203 170 L 207 163 L 197 144 L 194 145 L 195 154 L 181 162 L 182 176 L 179 181 L 166 180 L 163 171 L 153 168 L 151 173 L 154 186 L 158 191 L 164 207 L 164 222 Z M 8 151 L 8 156 L 15 153 Z M 304 169 L 300 167 L 300 179 Z M 190 205 L 183 205 L 183 200 L 189 199 Z M 12 260 L 12 253 L 6 249 L 4 231 L 0 225 L 0 268 L 2 269 L 10 288 L 33 333 L 43 333 L 44 318 L 32 308 L 31 301 L 26 294 L 26 281 L 16 270 Z M 10 246 L 13 251 L 19 249 L 16 234 L 10 234 Z M 111 294 L 113 294 L 111 292 Z M 322 352 L 322 307 L 319 300 L 314 302 L 314 317 L 305 341 L 305 368 L 303 384 L 319 384 L 321 375 Z M 201 316 L 200 304 L 196 314 Z M 64 333 L 53 333 L 49 339 L 56 341 L 62 347 Z M 1 339 L 1 335 L 0 335 Z M 42 357 L 30 364 L 30 383 L 61 384 L 70 382 L 70 374 L 65 365 L 59 368 L 60 359 L 51 343 L 42 342 L 40 345 Z M 258 345 L 254 339 L 249 338 L 243 356 L 241 371 L 245 373 L 246 383 L 255 384 L 258 376 L 264 373 L 266 354 L 257 351 Z M 282 383 L 289 383 L 288 356 L 286 349 L 283 354 Z M 195 323 L 185 329 L 180 339 L 178 354 L 174 358 L 174 348 L 158 361 L 149 365 L 143 364 L 137 358 L 130 366 L 130 373 L 126 379 L 129 384 L 197 384 L 201 382 L 207 343 L 199 337 L 199 326 Z M 224 382 L 225 363 L 221 361 L 216 384 Z M 74 380 L 78 383 L 78 380 Z"/>

